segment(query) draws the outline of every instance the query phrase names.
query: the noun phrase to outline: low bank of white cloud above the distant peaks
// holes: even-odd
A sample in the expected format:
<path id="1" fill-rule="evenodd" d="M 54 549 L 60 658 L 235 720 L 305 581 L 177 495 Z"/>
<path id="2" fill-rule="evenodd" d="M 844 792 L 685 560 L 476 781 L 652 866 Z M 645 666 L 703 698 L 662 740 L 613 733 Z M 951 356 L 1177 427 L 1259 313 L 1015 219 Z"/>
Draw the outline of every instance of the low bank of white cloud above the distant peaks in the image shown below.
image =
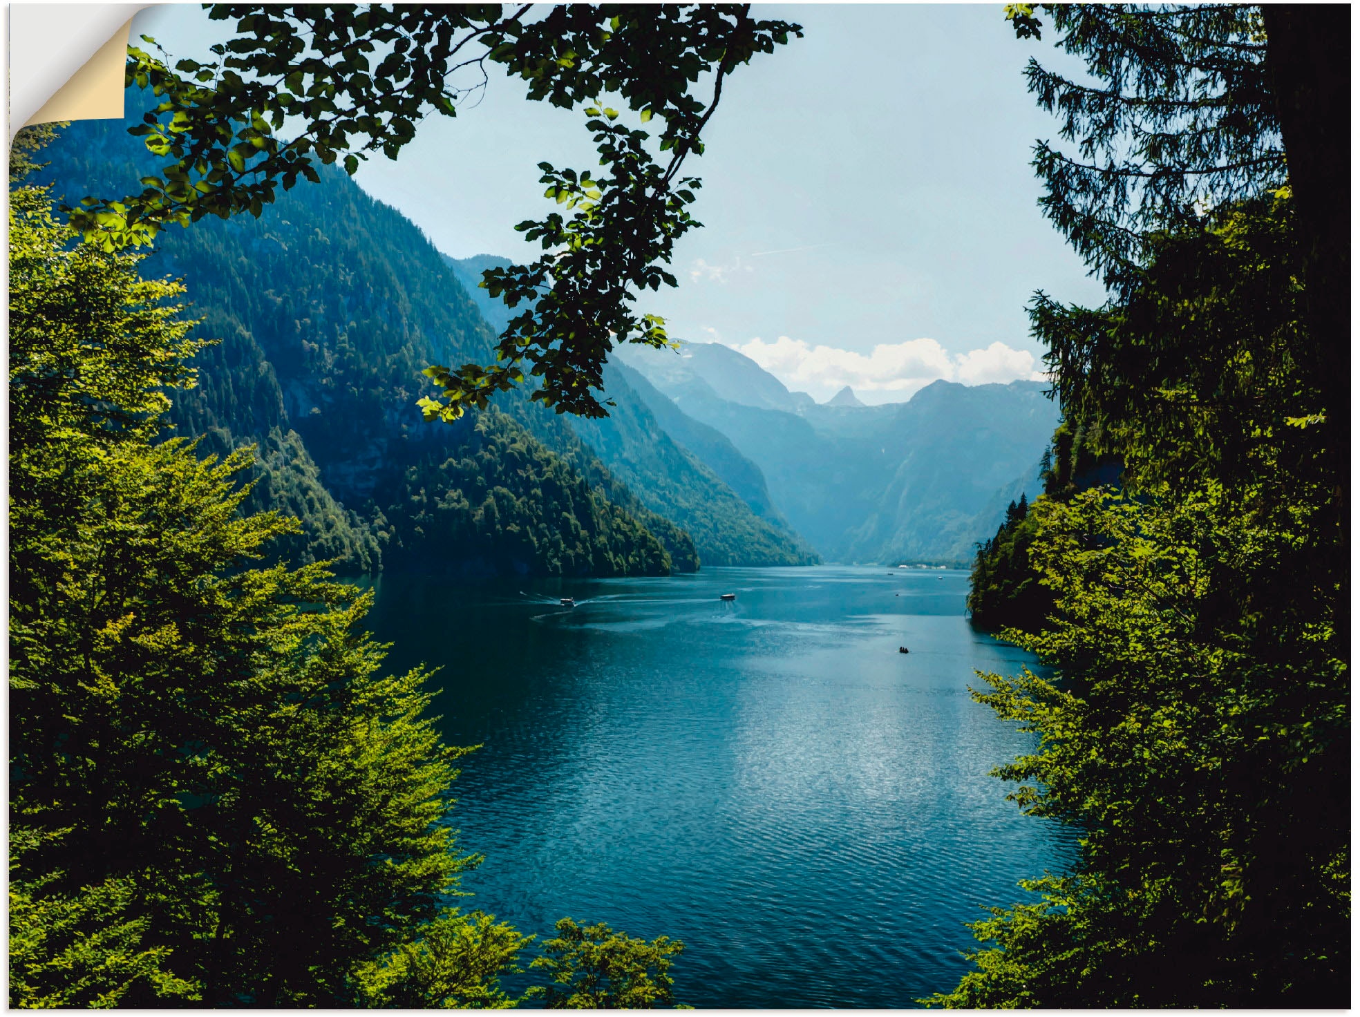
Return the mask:
<path id="1" fill-rule="evenodd" d="M 1034 354 L 993 343 L 986 349 L 951 354 L 933 339 L 880 343 L 869 354 L 808 345 L 779 336 L 774 343 L 752 339 L 729 344 L 793 390 L 827 400 L 846 385 L 865 402 L 900 402 L 940 378 L 964 385 L 1043 381 Z"/>

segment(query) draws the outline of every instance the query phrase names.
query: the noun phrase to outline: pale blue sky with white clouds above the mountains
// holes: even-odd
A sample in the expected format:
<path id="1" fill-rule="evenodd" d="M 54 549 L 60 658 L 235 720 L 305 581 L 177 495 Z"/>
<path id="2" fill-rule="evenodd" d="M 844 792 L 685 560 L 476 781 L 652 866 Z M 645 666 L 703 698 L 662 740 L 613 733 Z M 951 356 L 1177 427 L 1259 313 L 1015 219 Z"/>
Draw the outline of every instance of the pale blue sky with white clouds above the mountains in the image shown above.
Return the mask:
<path id="1" fill-rule="evenodd" d="M 1030 56 L 1001 4 L 770 4 L 804 26 L 724 86 L 685 171 L 703 178 L 706 228 L 676 245 L 676 290 L 646 294 L 687 341 L 721 341 L 794 390 L 865 402 L 910 398 L 937 378 L 1042 377 L 1028 336 L 1035 290 L 1100 303 L 1102 287 L 1036 205 L 1030 167 L 1054 118 L 1025 91 Z M 152 8 L 137 33 L 175 56 L 222 31 L 199 8 Z M 585 117 L 524 101 L 492 77 L 457 118 L 431 114 L 397 162 L 356 179 L 454 257 L 528 261 L 514 224 L 551 203 L 537 163 L 593 169 Z"/>

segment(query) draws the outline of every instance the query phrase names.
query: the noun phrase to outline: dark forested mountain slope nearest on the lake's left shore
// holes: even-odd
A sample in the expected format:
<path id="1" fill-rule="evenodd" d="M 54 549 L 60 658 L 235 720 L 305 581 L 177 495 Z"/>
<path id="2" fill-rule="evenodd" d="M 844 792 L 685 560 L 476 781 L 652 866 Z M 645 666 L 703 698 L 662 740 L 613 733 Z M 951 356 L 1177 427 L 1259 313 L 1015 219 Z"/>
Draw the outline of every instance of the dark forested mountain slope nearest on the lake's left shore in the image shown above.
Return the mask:
<path id="1" fill-rule="evenodd" d="M 129 92 L 129 109 L 139 102 Z M 39 179 L 71 204 L 126 193 L 141 155 L 124 124 L 79 122 L 46 150 Z M 302 518 L 305 534 L 283 548 L 295 560 L 340 556 L 345 571 L 670 568 L 658 536 L 611 500 L 608 491 L 627 492 L 589 453 L 571 462 L 503 413 L 422 421 L 420 370 L 484 359 L 492 336 L 420 231 L 341 171 L 299 184 L 260 219 L 165 230 L 141 271 L 182 276 L 197 333 L 222 340 L 200 356 L 200 386 L 175 401 L 178 432 L 207 435 L 209 451 L 260 443 L 252 507 Z M 695 567 L 688 537 L 654 521 L 677 564 Z"/>

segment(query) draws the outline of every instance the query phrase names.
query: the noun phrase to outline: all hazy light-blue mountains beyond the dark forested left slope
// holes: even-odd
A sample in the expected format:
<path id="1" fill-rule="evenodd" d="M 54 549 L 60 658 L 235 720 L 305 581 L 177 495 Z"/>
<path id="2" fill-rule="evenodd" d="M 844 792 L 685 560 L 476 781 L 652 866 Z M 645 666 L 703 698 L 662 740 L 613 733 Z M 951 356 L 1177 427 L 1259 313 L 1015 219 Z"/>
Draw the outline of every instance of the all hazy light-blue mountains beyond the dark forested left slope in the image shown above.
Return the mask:
<path id="1" fill-rule="evenodd" d="M 509 261 L 447 260 L 488 321 L 503 326 L 509 310 L 475 287 L 483 269 Z M 1039 491 L 1039 460 L 1058 421 L 1043 390 L 1040 382 L 937 381 L 907 402 L 865 405 L 846 386 L 819 404 L 718 343 L 679 351 L 623 345 L 605 375 L 605 394 L 620 404 L 613 423 L 574 427 L 636 489 L 661 491 L 661 472 L 630 468 L 623 445 L 605 436 L 617 420 L 635 417 L 641 400 L 656 426 L 752 511 L 801 534 L 821 556 L 962 566 L 1010 500 Z M 688 518 L 685 525 L 714 533 Z M 695 540 L 703 548 L 714 537 Z M 718 552 L 715 560 L 728 559 Z"/>

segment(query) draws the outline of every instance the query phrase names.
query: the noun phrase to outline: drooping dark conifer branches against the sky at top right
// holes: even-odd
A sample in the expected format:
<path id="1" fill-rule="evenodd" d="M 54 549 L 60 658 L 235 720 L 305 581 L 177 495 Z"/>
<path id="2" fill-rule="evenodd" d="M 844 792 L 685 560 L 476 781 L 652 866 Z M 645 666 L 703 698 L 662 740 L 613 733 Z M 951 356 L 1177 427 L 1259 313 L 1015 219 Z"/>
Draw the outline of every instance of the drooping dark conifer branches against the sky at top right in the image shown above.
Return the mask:
<path id="1" fill-rule="evenodd" d="M 1034 4 L 1012 4 L 1020 35 L 1040 35 Z M 1146 239 L 1197 209 L 1285 182 L 1261 8 L 1250 4 L 1044 4 L 1057 46 L 1084 61 L 1077 83 L 1032 58 L 1038 105 L 1062 140 L 1035 144 L 1040 207 L 1087 264 L 1123 287 Z"/>

